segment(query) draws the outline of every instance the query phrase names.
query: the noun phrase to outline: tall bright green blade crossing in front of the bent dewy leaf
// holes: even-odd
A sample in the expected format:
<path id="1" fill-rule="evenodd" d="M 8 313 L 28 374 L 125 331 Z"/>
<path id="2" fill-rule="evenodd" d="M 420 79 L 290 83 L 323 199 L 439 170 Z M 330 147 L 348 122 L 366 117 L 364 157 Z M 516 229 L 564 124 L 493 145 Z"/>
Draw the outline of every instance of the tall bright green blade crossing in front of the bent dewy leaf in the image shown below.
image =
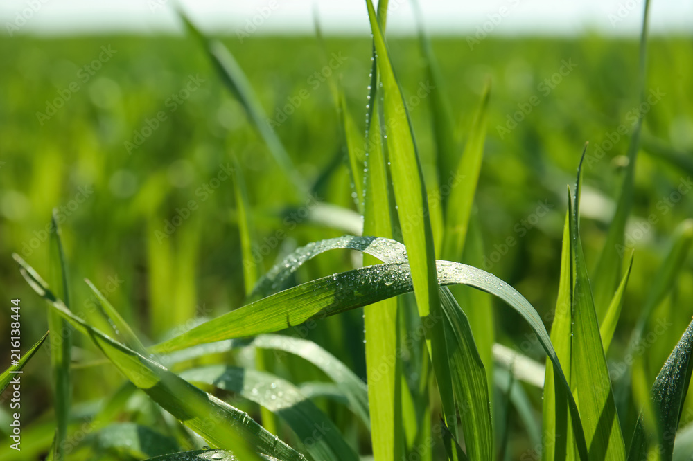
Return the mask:
<path id="1" fill-rule="evenodd" d="M 385 47 L 385 39 L 373 4 L 366 0 L 377 54 L 378 71 L 383 85 L 383 112 L 387 131 L 387 151 L 391 162 L 390 172 L 394 195 L 398 206 L 399 222 L 407 246 L 409 260 L 414 267 L 412 280 L 414 296 L 419 307 L 419 316 L 441 318 L 439 290 L 435 266 L 435 245 L 428 215 L 428 196 L 423 182 L 419 156 L 416 153 L 414 137 L 410 127 L 402 93 L 394 76 L 392 64 Z M 437 379 L 443 413 L 446 422 L 455 427 L 455 399 L 450 379 L 450 365 L 446 359 L 446 338 L 441 323 L 434 323 L 426 332 L 433 370 Z M 467 448 L 472 458 L 487 453 L 490 446 L 484 440 L 477 440 L 472 434 L 467 439 Z M 482 456 L 483 458 L 483 456 Z"/>

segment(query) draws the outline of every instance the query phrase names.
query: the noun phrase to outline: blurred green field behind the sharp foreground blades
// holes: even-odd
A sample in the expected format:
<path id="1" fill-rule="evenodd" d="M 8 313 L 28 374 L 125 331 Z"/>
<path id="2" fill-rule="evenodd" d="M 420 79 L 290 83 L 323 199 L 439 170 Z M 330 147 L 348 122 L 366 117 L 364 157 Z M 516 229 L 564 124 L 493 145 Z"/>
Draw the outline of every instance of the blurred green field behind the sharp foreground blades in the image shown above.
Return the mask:
<path id="1" fill-rule="evenodd" d="M 231 155 L 245 174 L 257 238 L 267 248 L 268 254 L 258 257 L 265 270 L 295 246 L 344 233 L 287 213 L 289 207 L 313 210 L 315 203 L 356 210 L 335 102 L 319 75 L 331 69 L 363 128 L 370 40 L 326 39 L 329 53 L 344 58 L 332 67 L 313 37 L 252 37 L 243 44 L 234 37 L 224 42 L 267 116 L 286 116 L 275 130 L 300 172 L 315 184 L 312 199 L 295 197 L 243 108 L 191 37 L 0 38 L 0 292 L 6 304 L 21 299 L 23 347 L 46 331 L 46 307 L 21 279 L 11 255 L 19 253 L 47 275 L 46 229 L 53 207 L 64 217 L 71 308 L 96 325 L 103 322 L 82 281 L 89 278 L 147 343 L 243 305 L 233 184 L 224 179 Z M 488 258 L 482 269 L 523 293 L 549 327 L 565 190 L 574 182 L 585 141 L 590 147 L 581 233 L 591 266 L 602 251 L 633 111 L 638 110 L 638 44 L 594 35 L 487 38 L 473 49 L 464 37 L 437 37 L 433 45 L 462 136 L 484 82 L 491 79 L 489 133 L 475 209 Z M 435 146 L 426 96 L 437 89 L 426 89 L 415 39 L 394 37 L 389 46 L 410 102 L 419 154 L 432 175 Z M 674 229 L 693 209 L 685 193 L 672 196 L 682 181 L 690 182 L 692 171 L 661 158 L 664 149 L 658 147 L 693 161 L 692 53 L 690 37 L 650 39 L 646 87 L 660 99 L 643 108 L 646 149 L 638 156 L 635 208 L 626 231 L 633 237 L 626 251 L 635 249 L 635 262 L 609 352 L 613 361 L 622 359 Z M 521 121 L 513 124 L 511 118 Z M 626 134 L 614 135 L 620 128 Z M 670 204 L 663 205 L 667 198 Z M 638 232 L 651 214 L 658 218 L 656 224 Z M 507 245 L 509 237 L 514 244 Z M 322 255 L 301 269 L 297 280 L 350 267 L 349 253 Z M 653 317 L 673 324 L 648 352 L 655 374 L 693 311 L 690 259 L 685 268 Z M 496 314 L 498 341 L 518 347 L 529 329 L 508 309 Z M 8 320 L 9 314 L 0 317 L 0 337 L 9 334 Z M 365 377 L 361 312 L 321 323 L 308 338 Z M 87 341 L 78 336 L 75 341 L 73 359 L 100 359 Z M 27 426 L 50 417 L 44 414 L 44 408 L 51 408 L 47 351 L 38 354 L 25 374 Z M 523 352 L 543 362 L 538 343 Z M 0 357 L 0 368 L 8 365 L 8 355 Z M 291 360 L 287 357 L 286 363 Z M 304 363 L 298 371 L 289 365 L 280 371 L 295 382 L 321 379 L 317 369 L 306 370 Z M 75 401 L 89 402 L 114 391 L 122 379 L 105 365 L 79 368 L 73 382 Z M 537 390 L 530 396 L 541 399 Z M 337 421 L 339 411 L 344 409 L 332 413 Z M 518 440 L 516 449 L 527 449 L 528 443 Z"/>

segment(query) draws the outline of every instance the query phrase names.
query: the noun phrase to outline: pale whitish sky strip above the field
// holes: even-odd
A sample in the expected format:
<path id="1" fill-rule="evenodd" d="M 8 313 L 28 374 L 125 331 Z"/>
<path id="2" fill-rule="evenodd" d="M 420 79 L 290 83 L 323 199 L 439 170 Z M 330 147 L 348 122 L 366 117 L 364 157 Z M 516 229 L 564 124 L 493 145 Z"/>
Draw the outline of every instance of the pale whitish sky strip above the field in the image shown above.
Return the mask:
<path id="1" fill-rule="evenodd" d="M 7 36 L 179 33 L 180 4 L 198 25 L 224 35 L 313 34 L 317 12 L 326 35 L 369 33 L 365 0 L 2 0 Z M 419 0 L 432 35 L 637 35 L 644 0 Z M 411 0 L 390 0 L 388 31 L 415 30 Z M 651 33 L 693 32 L 693 2 L 654 0 Z"/>

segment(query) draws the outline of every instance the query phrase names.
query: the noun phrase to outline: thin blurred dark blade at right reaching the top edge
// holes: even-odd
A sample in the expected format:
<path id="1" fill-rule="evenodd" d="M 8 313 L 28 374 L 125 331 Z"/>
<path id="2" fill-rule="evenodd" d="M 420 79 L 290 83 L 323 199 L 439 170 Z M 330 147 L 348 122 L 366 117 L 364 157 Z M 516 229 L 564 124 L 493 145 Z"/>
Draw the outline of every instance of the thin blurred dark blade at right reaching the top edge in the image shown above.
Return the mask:
<path id="1" fill-rule="evenodd" d="M 646 78 L 646 51 L 647 51 L 647 26 L 649 17 L 649 0 L 644 2 L 644 15 L 642 17 L 642 33 L 640 34 L 640 68 L 638 71 L 638 96 L 639 102 L 645 102 L 645 78 Z M 635 161 L 638 158 L 640 148 L 640 129 L 642 128 L 642 117 L 638 116 L 637 123 L 631 134 L 628 145 L 628 165 L 620 187 L 620 195 L 616 202 L 616 211 L 608 228 L 604 250 L 599 255 L 597 267 L 593 276 L 595 280 L 594 299 L 595 309 L 597 309 L 597 320 L 602 323 L 609 302 L 613 298 L 618 277 L 622 272 L 624 233 L 626 221 L 633 208 L 633 181 L 635 178 Z"/>

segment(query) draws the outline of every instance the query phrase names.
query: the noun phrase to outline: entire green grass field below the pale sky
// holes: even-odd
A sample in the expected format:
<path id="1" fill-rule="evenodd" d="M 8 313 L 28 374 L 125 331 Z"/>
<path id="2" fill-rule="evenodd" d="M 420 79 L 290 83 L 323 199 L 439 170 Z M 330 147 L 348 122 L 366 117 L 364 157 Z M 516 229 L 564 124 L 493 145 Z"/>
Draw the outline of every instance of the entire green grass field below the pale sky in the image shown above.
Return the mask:
<path id="1" fill-rule="evenodd" d="M 566 397 L 558 384 L 549 397 L 542 391 L 546 352 L 536 336 L 538 327 L 531 327 L 524 314 L 481 291 L 453 287 L 438 293 L 437 285 L 430 284 L 430 274 L 436 273 L 431 266 L 435 258 L 469 263 L 495 275 L 505 283 L 493 285 L 498 293 L 507 285 L 514 287 L 536 309 L 536 318 L 551 333 L 568 384 L 577 396 L 588 459 L 625 459 L 642 406 L 643 433 L 647 435 L 642 435 L 640 454 L 647 456 L 649 450 L 660 458 L 647 459 L 672 459 L 673 437 L 667 438 L 661 424 L 675 420 L 673 427 L 666 427 L 669 435 L 681 434 L 674 459 L 693 459 L 693 431 L 688 426 L 693 422 L 693 406 L 690 399 L 685 401 L 692 368 L 690 345 L 685 350 L 685 341 L 690 338 L 681 338 L 693 314 L 688 255 L 693 227 L 687 221 L 693 210 L 688 195 L 693 187 L 690 37 L 649 38 L 642 104 L 635 39 L 486 38 L 470 45 L 465 37 L 435 37 L 432 52 L 441 79 L 432 80 L 427 68 L 430 55 L 422 51 L 419 41 L 390 37 L 389 55 L 402 96 L 397 98 L 396 85 L 389 84 L 387 72 L 380 71 L 384 89 L 369 100 L 371 39 L 330 37 L 322 44 L 314 37 L 253 36 L 243 43 L 235 37 L 222 42 L 256 93 L 266 114 L 261 118 L 265 131 L 277 136 L 295 165 L 290 174 L 279 165 L 243 103 L 228 91 L 204 48 L 191 35 L 0 39 L 4 57 L 0 72 L 0 274 L 3 303 L 8 305 L 0 320 L 1 336 L 12 336 L 11 299 L 21 300 L 23 351 L 51 323 L 46 345 L 26 365 L 21 378 L 21 452 L 10 448 L 10 390 L 3 394 L 0 432 L 8 438 L 0 446 L 0 459 L 43 459 L 51 444 L 61 440 L 62 449 L 55 449 L 52 459 L 147 459 L 202 446 L 231 451 L 242 460 L 267 456 L 301 459 L 293 449 L 314 460 L 351 460 L 374 453 L 376 460 L 446 459 L 448 427 L 453 439 L 448 448 L 452 446 L 454 451 L 454 442 L 459 442 L 469 459 L 490 459 L 485 458 L 489 453 L 499 460 L 561 459 L 555 448 L 561 444 L 567 446 L 565 459 L 584 458 L 572 431 L 561 429 L 555 419 L 553 426 L 547 422 L 554 408 L 565 407 L 565 418 L 568 406 L 560 400 Z M 382 57 L 380 53 L 378 64 L 385 61 Z M 480 111 L 489 83 L 489 101 L 485 111 Z M 344 95 L 343 112 L 337 110 L 337 87 Z M 385 165 L 391 187 L 387 183 L 378 186 L 373 167 L 363 179 L 358 164 L 364 159 L 363 151 L 353 144 L 363 142 L 366 104 L 376 99 L 389 116 L 401 116 L 396 107 L 404 102 L 416 143 L 415 152 L 408 149 L 412 138 L 406 136 L 407 124 L 402 121 L 406 118 L 394 126 L 384 125 L 389 139 L 377 139 L 378 146 L 380 141 L 387 146 L 385 152 L 392 163 Z M 475 155 L 475 136 L 483 140 L 486 125 L 485 144 L 478 152 L 482 163 L 476 187 L 473 160 L 469 170 L 455 168 L 461 147 L 450 154 L 453 160 L 448 159 L 447 164 L 441 154 L 445 137 L 437 131 L 444 125 L 440 101 L 450 109 L 450 118 L 443 120 L 453 130 L 450 139 L 457 140 L 456 146 L 466 142 L 465 155 L 470 159 Z M 480 115 L 475 118 L 475 114 Z M 629 143 L 640 116 L 634 186 L 624 199 L 632 202 L 632 208 L 624 224 L 624 242 L 611 248 L 605 242 L 615 210 L 621 206 L 624 178 L 628 181 Z M 484 117 L 486 122 L 480 123 Z M 371 115 L 374 118 L 377 113 Z M 371 127 L 369 135 L 374 136 L 373 132 Z M 568 219 L 566 213 L 569 204 L 573 210 L 578 204 L 574 197 L 568 199 L 566 186 L 576 192 L 576 171 L 586 141 L 577 235 L 577 219 Z M 372 159 L 374 151 L 369 155 Z M 355 161 L 357 168 L 352 168 Z M 445 168 L 449 165 L 453 168 Z M 430 213 L 422 212 L 410 222 L 422 197 L 416 183 L 419 172 L 426 183 Z M 466 190 L 463 185 L 469 181 L 471 195 L 459 192 Z M 295 182 L 304 188 L 296 187 Z M 435 190 L 439 193 L 431 195 Z M 59 242 L 51 237 L 55 234 L 51 232 L 55 207 L 66 271 L 60 269 L 56 257 Z M 468 208 L 471 218 L 458 217 L 460 208 Z M 459 219 L 457 224 L 455 219 Z M 361 253 L 351 243 L 347 245 L 351 251 L 318 255 L 284 274 L 286 278 L 282 275 L 272 287 L 251 294 L 258 276 L 277 263 L 281 269 L 284 257 L 297 248 L 360 234 L 364 226 L 363 235 L 394 237 L 406 245 L 411 275 L 409 266 L 401 276 L 394 266 L 383 266 L 385 275 L 366 269 L 342 274 L 361 264 L 379 263 L 372 256 L 362 262 Z M 463 240 L 466 234 L 464 246 L 456 240 L 460 228 L 464 228 Z M 335 244 L 335 248 L 339 246 Z M 134 355 L 124 359 L 127 354 L 118 349 L 120 343 L 104 343 L 84 325 L 80 330 L 78 320 L 66 320 L 64 312 L 62 317 L 46 316 L 59 309 L 47 308 L 24 282 L 12 253 L 48 280 L 53 293 L 85 325 L 128 345 L 128 351 L 136 351 L 132 354 L 141 352 L 163 362 L 202 390 L 247 412 L 292 449 L 257 448 L 253 437 L 262 438 L 264 433 L 254 423 L 228 423 L 228 428 L 211 424 L 214 428 L 209 429 L 199 421 L 198 426 L 177 422 L 193 421 L 193 410 L 186 404 L 197 405 L 195 411 L 200 415 L 216 407 L 210 410 L 205 406 L 210 401 L 202 397 L 199 402 L 196 397 L 183 397 L 193 391 L 180 390 L 176 387 L 182 386 L 179 381 L 167 381 L 173 378 L 158 375 L 158 369 L 128 374 L 127 363 Z M 618 255 L 612 258 L 618 260 L 614 262 L 616 271 L 599 272 L 594 278 L 599 258 L 607 253 Z M 611 300 L 629 267 L 631 253 L 633 264 L 622 307 L 617 303 L 618 309 L 609 309 L 615 318 L 604 318 L 608 304 L 603 300 Z M 437 275 L 457 280 L 462 269 L 455 270 L 457 275 L 439 266 Z M 67 290 L 62 287 L 61 273 L 67 274 Z M 334 286 L 329 281 L 301 285 L 333 274 Z M 394 284 L 387 278 L 390 276 Z M 602 283 L 610 277 L 615 284 Z M 102 300 L 89 289 L 85 278 L 103 293 Z M 379 284 L 381 278 L 384 284 Z M 412 291 L 411 286 L 400 287 L 405 279 L 413 283 L 416 297 L 403 294 L 392 298 L 394 301 L 381 300 Z M 258 301 L 255 310 L 244 308 L 238 316 L 216 323 L 226 336 L 213 336 L 209 329 L 204 330 L 209 335 L 204 341 L 198 335 L 187 343 L 175 342 L 188 329 L 249 300 L 298 285 L 306 287 L 302 297 L 291 295 L 297 297 L 273 301 L 275 304 Z M 333 291 L 320 291 L 328 289 Z M 493 289 L 486 290 L 493 293 Z M 340 293 L 344 294 L 341 298 Z M 459 303 L 466 317 L 453 315 L 454 307 L 453 311 L 440 310 L 436 300 L 446 298 L 446 293 L 452 293 L 457 300 L 452 305 Z M 500 296 L 498 293 L 494 294 Z M 592 293 L 594 300 L 586 301 L 593 299 Z M 608 297 L 600 298 L 600 293 Z M 379 301 L 365 307 L 366 318 L 360 307 L 363 303 L 358 304 L 361 298 L 368 299 L 366 304 Z M 426 305 L 422 300 L 428 298 L 430 304 Z M 557 299 L 558 305 L 561 300 L 567 302 L 569 314 L 556 307 Z M 352 301 L 356 309 L 347 307 Z M 104 314 L 102 306 L 107 303 L 118 314 L 107 307 Z M 62 304 L 53 300 L 55 305 Z M 443 305 L 450 303 L 444 301 Z M 341 313 L 328 316 L 329 309 Z M 433 327 L 426 326 L 419 318 L 421 314 L 426 319 L 424 312 L 431 318 L 443 312 L 441 318 L 449 320 L 450 330 L 435 322 Z M 563 331 L 568 334 L 563 336 L 552 329 L 559 316 L 567 322 Z M 597 341 L 599 325 L 592 319 L 602 327 L 603 348 Z M 61 334 L 68 322 L 77 329 Z M 370 352 L 365 323 L 374 330 L 367 333 L 372 342 L 380 341 Z M 137 341 L 124 329 L 125 324 Z M 615 329 L 605 336 L 606 324 Z M 293 326 L 287 329 L 286 325 Z M 420 325 L 424 325 L 426 338 L 416 334 Z M 312 341 L 319 345 L 319 352 L 310 349 L 312 343 L 301 343 L 308 351 L 304 358 L 290 351 L 298 347 L 294 343 L 256 336 L 270 332 Z M 629 345 L 633 332 L 640 332 L 639 340 Z M 474 347 L 466 342 L 471 333 Z M 71 346 L 66 352 L 67 336 L 71 336 Z M 248 337 L 255 339 L 240 339 Z M 453 337 L 459 341 L 457 348 Z M 237 342 L 229 346 L 231 350 L 221 347 L 171 358 L 173 350 L 184 345 L 201 347 L 197 344 L 209 343 L 210 338 Z M 150 348 L 164 340 L 170 341 L 159 349 Z M 493 343 L 498 343 L 495 354 Z M 663 413 L 665 406 L 649 404 L 649 389 L 677 344 L 681 354 L 674 357 L 679 360 L 678 374 L 674 374 L 683 374 L 681 382 L 675 383 L 674 378 L 656 382 L 676 389 L 681 405 L 675 412 Z M 316 357 L 322 349 L 333 355 L 324 359 L 332 365 L 311 363 L 319 362 Z M 0 359 L 2 369 L 10 365 L 10 347 L 7 350 Z M 386 357 L 388 350 L 391 354 L 396 350 L 396 359 Z M 503 361 L 502 352 L 508 350 L 521 356 Z M 71 366 L 64 361 L 60 365 L 61 352 L 68 354 Z M 604 356 L 604 366 L 595 365 Z M 366 391 L 368 361 L 371 375 Z M 351 372 L 335 371 L 335 363 L 343 363 Z M 378 363 L 385 363 L 382 370 Z M 558 379 L 552 369 L 550 366 L 546 374 L 551 383 Z M 220 370 L 226 374 L 220 375 Z M 452 384 L 441 383 L 445 373 L 452 373 Z M 129 381 L 123 374 L 147 392 L 125 385 Z M 460 382 L 455 378 L 458 374 Z M 56 391 L 51 385 L 60 376 L 67 379 L 62 396 L 71 394 L 71 403 L 58 401 L 60 386 Z M 475 381 L 482 378 L 483 384 Z M 284 396 L 273 393 L 277 386 Z M 591 388 L 601 390 L 588 397 Z M 599 394 L 602 390 L 604 394 Z M 371 400 L 370 419 L 364 407 L 366 392 Z M 254 397 L 258 393 L 261 397 Z M 179 395 L 183 403 L 167 400 L 171 395 Z M 486 395 L 486 410 L 483 399 L 480 404 L 475 397 L 479 395 Z M 396 404 L 390 405 L 388 398 Z M 61 410 L 65 403 L 69 407 Z M 290 411 L 297 408 L 301 411 Z M 553 416 L 559 418 L 559 413 Z M 603 423 L 604 415 L 617 417 Z M 446 426 L 441 426 L 441 418 Z M 471 428 L 472 421 L 485 421 L 488 427 Z M 247 446 L 243 446 L 244 440 Z M 251 454 L 256 451 L 265 458 Z M 225 459 L 227 453 L 210 451 L 195 459 L 207 459 L 207 455 Z M 217 455 L 220 458 L 214 458 Z M 458 454 L 449 456 L 453 459 Z"/>

